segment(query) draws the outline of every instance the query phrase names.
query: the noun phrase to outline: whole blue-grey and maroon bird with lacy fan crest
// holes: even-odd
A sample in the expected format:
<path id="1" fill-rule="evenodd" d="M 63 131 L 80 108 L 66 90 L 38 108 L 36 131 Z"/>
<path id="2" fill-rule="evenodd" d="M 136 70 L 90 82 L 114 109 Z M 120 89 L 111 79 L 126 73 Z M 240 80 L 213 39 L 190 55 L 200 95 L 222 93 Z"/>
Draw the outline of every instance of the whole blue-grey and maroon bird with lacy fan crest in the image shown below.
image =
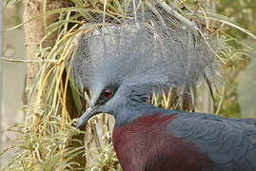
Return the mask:
<path id="1" fill-rule="evenodd" d="M 113 144 L 124 171 L 255 171 L 255 120 L 147 103 L 153 92 L 209 76 L 218 46 L 159 7 L 144 10 L 82 36 L 72 71 L 92 97 L 77 127 L 97 113 L 113 115 Z"/>

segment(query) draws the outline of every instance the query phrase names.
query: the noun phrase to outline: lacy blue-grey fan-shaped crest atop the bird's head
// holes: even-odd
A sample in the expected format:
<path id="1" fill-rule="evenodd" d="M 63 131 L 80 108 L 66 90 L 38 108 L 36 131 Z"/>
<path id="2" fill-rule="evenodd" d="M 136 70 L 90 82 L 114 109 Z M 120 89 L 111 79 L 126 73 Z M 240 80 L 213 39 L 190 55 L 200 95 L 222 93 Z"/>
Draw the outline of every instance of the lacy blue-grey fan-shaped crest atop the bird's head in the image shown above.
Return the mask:
<path id="1" fill-rule="evenodd" d="M 192 85 L 213 70 L 214 54 L 193 28 L 179 22 L 133 22 L 84 35 L 73 61 L 80 86 L 136 85 L 140 91 Z"/>

